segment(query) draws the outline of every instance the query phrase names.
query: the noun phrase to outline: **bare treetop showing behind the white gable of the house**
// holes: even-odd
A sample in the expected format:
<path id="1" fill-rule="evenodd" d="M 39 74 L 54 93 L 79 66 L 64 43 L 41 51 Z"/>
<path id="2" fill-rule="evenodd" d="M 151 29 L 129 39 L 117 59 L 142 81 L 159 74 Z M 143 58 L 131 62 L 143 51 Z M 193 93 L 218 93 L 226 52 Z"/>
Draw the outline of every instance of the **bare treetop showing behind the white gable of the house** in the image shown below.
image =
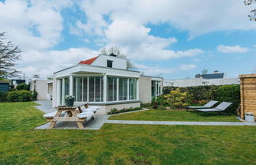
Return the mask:
<path id="1" fill-rule="evenodd" d="M 134 64 L 132 62 L 130 62 L 129 59 L 127 59 L 126 54 L 122 53 L 122 51 L 120 50 L 119 47 L 115 46 L 115 47 L 109 47 L 106 48 L 104 47 L 103 49 L 101 49 L 100 54 L 104 54 L 104 55 L 109 55 L 109 54 L 115 54 L 116 57 L 118 58 L 124 58 L 126 59 L 126 68 L 127 69 L 136 69 L 136 67 L 134 66 Z"/>

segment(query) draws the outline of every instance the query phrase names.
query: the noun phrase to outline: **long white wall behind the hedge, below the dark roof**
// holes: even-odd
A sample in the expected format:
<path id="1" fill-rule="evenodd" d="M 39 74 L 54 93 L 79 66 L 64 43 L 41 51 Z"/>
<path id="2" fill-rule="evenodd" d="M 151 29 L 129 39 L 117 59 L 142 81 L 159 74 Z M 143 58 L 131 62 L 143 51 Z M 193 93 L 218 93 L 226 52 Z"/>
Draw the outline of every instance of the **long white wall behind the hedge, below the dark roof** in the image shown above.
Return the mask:
<path id="1" fill-rule="evenodd" d="M 224 85 L 224 84 L 240 84 L 239 78 L 217 78 L 217 79 L 178 79 L 178 80 L 164 80 L 164 86 L 173 87 L 192 87 L 200 85 Z"/>

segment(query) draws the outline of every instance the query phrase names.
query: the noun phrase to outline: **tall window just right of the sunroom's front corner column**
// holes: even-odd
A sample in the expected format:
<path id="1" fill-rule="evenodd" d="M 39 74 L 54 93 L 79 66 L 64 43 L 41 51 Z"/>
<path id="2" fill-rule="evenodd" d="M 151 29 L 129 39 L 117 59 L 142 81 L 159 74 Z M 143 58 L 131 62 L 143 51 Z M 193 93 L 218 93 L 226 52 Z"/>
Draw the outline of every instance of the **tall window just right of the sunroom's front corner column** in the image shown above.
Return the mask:
<path id="1" fill-rule="evenodd" d="M 117 78 L 107 77 L 107 101 L 117 100 Z"/>

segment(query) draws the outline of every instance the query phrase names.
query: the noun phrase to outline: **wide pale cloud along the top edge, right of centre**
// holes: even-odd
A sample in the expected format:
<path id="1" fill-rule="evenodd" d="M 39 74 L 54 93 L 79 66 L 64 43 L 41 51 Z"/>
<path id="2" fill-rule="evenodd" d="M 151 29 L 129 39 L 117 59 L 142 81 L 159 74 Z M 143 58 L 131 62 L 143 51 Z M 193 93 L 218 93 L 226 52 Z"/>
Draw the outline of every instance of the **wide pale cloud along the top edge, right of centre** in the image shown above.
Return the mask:
<path id="1" fill-rule="evenodd" d="M 256 28 L 256 24 L 248 21 L 250 6 L 244 6 L 243 1 L 109 0 L 106 3 L 104 0 L 84 0 L 80 6 L 88 17 L 82 28 L 101 36 L 108 22 L 116 20 L 130 20 L 141 25 L 168 23 L 190 32 L 191 37 L 208 32 Z M 109 19 L 104 19 L 106 16 Z"/>

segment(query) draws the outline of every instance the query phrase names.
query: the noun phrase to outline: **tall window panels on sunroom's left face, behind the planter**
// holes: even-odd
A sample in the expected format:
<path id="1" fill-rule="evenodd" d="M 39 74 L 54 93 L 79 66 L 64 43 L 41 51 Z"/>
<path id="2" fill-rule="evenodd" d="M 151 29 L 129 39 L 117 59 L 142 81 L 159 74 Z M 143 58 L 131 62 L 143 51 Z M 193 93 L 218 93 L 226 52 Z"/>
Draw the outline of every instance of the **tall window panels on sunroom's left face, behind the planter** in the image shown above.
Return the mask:
<path id="1" fill-rule="evenodd" d="M 103 102 L 103 77 L 73 77 L 73 95 L 76 102 Z"/>

